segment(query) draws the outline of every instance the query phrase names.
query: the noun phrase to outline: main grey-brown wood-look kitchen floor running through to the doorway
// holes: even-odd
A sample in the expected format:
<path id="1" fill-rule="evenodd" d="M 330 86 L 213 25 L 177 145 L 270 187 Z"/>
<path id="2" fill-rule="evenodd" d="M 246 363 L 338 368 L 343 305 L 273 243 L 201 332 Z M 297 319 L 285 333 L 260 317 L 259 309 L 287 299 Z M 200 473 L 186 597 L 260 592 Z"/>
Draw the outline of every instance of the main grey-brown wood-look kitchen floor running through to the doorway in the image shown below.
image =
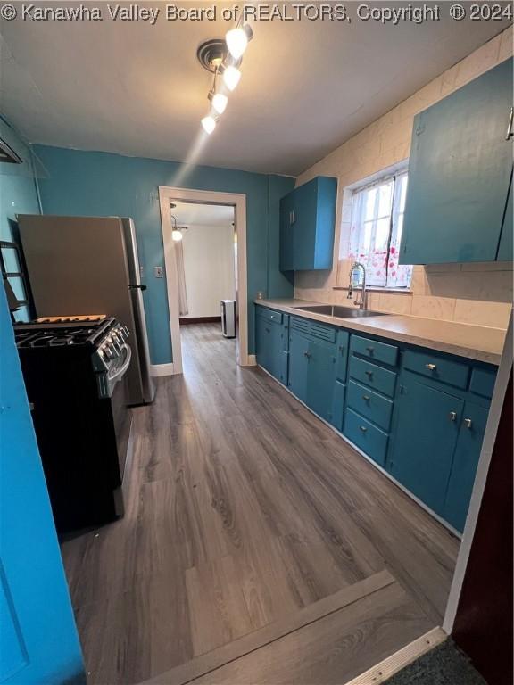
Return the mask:
<path id="1" fill-rule="evenodd" d="M 237 367 L 220 326 L 185 326 L 182 342 L 184 375 L 135 410 L 126 516 L 62 544 L 89 681 L 153 678 L 384 569 L 418 612 L 410 637 L 393 624 L 396 648 L 441 623 L 458 541 L 261 369 Z"/>

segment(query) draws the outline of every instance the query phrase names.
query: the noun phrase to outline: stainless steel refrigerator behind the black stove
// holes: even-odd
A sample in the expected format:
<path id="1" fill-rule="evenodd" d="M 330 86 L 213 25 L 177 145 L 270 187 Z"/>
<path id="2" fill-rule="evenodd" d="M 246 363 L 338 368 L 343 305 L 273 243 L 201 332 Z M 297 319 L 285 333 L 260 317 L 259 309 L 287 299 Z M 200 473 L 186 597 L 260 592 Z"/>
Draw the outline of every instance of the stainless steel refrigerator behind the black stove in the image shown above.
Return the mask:
<path id="1" fill-rule="evenodd" d="M 129 327 L 129 404 L 153 401 L 137 243 L 132 219 L 19 214 L 37 317 L 106 314 Z"/>

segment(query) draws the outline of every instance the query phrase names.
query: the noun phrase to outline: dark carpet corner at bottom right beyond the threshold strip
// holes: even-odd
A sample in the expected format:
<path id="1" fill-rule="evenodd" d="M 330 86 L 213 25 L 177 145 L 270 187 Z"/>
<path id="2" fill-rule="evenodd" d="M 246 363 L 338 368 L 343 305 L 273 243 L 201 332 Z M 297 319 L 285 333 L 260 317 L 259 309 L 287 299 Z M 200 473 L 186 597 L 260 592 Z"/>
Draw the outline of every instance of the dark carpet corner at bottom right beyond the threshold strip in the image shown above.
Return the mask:
<path id="1" fill-rule="evenodd" d="M 484 678 L 455 647 L 452 640 L 427 654 L 386 681 L 385 685 L 487 685 Z"/>

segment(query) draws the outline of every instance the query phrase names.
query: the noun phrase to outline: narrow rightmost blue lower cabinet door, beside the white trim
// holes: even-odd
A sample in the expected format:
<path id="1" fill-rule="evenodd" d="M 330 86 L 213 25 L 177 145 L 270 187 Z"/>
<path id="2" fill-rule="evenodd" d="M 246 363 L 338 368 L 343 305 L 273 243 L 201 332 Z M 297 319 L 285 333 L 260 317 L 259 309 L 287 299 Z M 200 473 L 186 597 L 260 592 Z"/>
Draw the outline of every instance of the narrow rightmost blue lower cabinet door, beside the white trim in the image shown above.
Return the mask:
<path id="1" fill-rule="evenodd" d="M 459 440 L 453 457 L 452 473 L 446 501 L 444 518 L 462 532 L 468 515 L 469 500 L 477 474 L 478 458 L 484 440 L 489 409 L 474 402 L 466 402 L 460 423 Z"/>

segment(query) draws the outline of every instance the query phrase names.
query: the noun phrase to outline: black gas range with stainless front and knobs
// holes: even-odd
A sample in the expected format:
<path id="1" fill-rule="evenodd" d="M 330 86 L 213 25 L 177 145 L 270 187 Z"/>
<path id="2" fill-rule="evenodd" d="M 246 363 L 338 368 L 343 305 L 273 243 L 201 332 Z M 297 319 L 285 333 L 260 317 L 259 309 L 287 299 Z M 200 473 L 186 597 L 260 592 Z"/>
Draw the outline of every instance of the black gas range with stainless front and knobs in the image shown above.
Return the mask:
<path id="1" fill-rule="evenodd" d="M 14 334 L 57 531 L 122 516 L 129 329 L 83 315 L 16 324 Z"/>

